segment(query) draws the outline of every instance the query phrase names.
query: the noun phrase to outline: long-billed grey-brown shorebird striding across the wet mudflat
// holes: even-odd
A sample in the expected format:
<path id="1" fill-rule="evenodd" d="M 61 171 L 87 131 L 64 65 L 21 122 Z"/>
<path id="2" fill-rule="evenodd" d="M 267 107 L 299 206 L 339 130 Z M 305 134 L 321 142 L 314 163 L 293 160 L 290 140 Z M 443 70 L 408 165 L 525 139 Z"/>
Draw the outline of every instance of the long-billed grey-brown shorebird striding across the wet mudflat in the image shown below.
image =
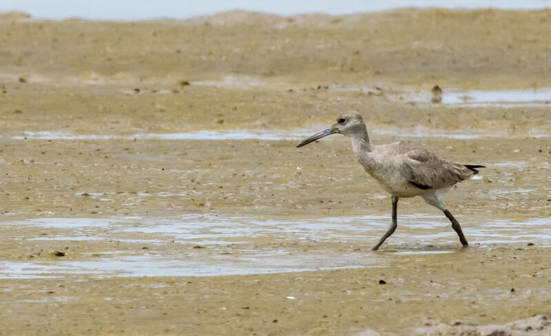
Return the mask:
<path id="1" fill-rule="evenodd" d="M 414 196 L 421 196 L 428 204 L 444 211 L 444 215 L 452 222 L 452 228 L 459 235 L 461 244 L 468 245 L 459 222 L 446 209 L 443 195 L 457 182 L 478 174 L 477 168 L 485 168 L 484 166 L 462 165 L 459 162 L 439 158 L 426 149 L 401 145 L 372 145 L 362 115 L 355 111 L 344 112 L 331 127 L 307 138 L 297 147 L 337 133 L 351 138 L 354 156 L 360 165 L 392 196 L 391 226 L 381 240 L 373 246 L 373 251 L 379 249 L 398 226 L 399 198 Z"/>

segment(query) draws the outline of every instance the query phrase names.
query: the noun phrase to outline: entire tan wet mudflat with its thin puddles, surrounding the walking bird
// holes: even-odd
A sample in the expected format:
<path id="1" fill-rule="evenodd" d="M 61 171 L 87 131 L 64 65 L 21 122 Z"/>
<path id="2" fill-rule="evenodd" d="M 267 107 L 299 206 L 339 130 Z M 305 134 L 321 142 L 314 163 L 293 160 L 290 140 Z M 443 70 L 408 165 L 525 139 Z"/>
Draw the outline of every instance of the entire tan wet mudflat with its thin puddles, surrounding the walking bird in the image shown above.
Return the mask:
<path id="1" fill-rule="evenodd" d="M 548 92 L 550 16 L 3 15 L 0 335 L 424 335 L 550 316 L 551 96 L 476 101 Z M 434 85 L 467 97 L 431 103 Z M 369 250 L 391 204 L 349 141 L 295 148 L 344 109 L 374 143 L 488 167 L 446 197 L 467 249 L 414 198 Z"/>

